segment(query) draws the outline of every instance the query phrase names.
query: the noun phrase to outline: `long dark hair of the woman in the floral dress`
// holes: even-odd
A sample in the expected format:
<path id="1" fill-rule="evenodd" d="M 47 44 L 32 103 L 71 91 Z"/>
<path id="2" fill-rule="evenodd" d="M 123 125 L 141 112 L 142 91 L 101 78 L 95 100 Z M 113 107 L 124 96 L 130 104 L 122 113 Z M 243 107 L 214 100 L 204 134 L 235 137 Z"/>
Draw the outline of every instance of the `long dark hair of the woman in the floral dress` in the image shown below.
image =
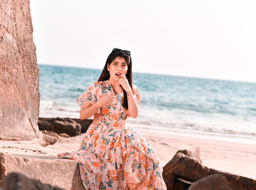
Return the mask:
<path id="1" fill-rule="evenodd" d="M 105 80 L 109 80 L 110 78 L 110 73 L 108 71 L 108 64 L 110 65 L 116 57 L 123 57 L 126 60 L 127 66 L 128 66 L 128 70 L 127 70 L 127 74 L 126 74 L 126 78 L 130 84 L 130 87 L 132 88 L 132 59 L 130 57 L 130 55 L 126 55 L 124 54 L 123 51 L 120 51 L 119 53 L 115 53 L 114 50 L 108 55 L 106 64 L 101 72 L 101 75 L 99 76 L 98 81 L 105 81 Z M 124 93 L 124 104 L 123 107 L 128 109 L 128 99 L 127 99 L 127 93 L 125 90 L 123 90 Z"/>

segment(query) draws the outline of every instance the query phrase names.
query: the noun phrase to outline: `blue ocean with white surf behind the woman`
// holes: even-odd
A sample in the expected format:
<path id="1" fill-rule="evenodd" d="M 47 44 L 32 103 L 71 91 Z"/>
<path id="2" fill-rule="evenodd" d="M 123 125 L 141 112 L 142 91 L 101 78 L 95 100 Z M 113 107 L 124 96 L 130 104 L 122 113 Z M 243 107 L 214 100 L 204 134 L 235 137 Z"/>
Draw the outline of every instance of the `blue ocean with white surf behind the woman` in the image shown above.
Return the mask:
<path id="1" fill-rule="evenodd" d="M 38 64 L 39 117 L 79 118 L 76 98 L 101 70 Z M 153 133 L 256 145 L 256 83 L 133 73 L 142 100 L 126 125 Z"/>

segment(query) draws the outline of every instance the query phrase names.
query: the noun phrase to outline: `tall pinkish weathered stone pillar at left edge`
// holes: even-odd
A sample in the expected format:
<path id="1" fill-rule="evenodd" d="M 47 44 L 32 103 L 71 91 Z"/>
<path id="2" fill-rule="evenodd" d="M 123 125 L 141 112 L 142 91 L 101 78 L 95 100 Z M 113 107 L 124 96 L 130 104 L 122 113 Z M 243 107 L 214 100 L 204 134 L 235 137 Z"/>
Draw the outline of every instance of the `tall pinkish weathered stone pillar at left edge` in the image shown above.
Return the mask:
<path id="1" fill-rule="evenodd" d="M 38 137 L 39 69 L 29 0 L 0 0 L 0 138 Z"/>

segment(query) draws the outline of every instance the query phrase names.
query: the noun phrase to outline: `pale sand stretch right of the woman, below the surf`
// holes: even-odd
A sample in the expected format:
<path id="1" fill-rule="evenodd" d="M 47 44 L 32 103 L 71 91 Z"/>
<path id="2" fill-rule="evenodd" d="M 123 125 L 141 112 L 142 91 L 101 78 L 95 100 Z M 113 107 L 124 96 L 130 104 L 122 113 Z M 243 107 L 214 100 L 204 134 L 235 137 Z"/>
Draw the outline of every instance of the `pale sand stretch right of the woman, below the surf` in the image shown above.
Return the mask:
<path id="1" fill-rule="evenodd" d="M 178 150 L 189 150 L 194 155 L 199 155 L 203 166 L 256 179 L 255 145 L 152 133 L 147 130 L 140 132 L 152 144 L 163 166 Z"/>

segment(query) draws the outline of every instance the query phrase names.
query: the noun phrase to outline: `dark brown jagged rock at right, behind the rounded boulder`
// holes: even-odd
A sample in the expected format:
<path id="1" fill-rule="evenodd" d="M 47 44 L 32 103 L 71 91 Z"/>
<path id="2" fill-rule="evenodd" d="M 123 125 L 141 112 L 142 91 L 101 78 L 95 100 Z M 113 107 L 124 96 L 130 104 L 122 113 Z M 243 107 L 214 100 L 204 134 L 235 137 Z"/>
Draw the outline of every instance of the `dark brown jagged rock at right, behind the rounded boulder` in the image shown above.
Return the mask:
<path id="1" fill-rule="evenodd" d="M 198 181 L 213 174 L 223 175 L 234 190 L 255 190 L 256 180 L 204 167 L 202 161 L 187 150 L 179 150 L 163 168 L 163 178 L 168 190 L 173 190 L 177 177 L 187 181 Z"/>

